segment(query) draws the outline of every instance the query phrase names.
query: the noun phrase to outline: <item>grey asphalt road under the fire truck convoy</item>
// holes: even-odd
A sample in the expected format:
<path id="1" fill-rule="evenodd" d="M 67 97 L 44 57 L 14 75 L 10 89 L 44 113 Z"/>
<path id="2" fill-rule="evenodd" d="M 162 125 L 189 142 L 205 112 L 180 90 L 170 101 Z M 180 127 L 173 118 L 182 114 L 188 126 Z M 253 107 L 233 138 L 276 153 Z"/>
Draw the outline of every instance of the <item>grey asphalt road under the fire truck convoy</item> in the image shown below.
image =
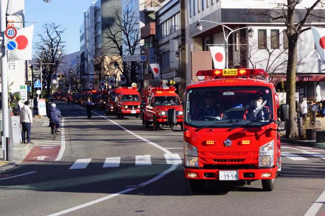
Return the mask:
<path id="1" fill-rule="evenodd" d="M 1 174 L 0 215 L 325 216 L 325 150 L 283 144 L 273 192 L 256 181 L 209 182 L 193 193 L 177 159 L 183 158 L 180 128 L 153 131 L 134 117 L 119 120 L 97 110 L 88 120 L 83 108 L 57 104 L 64 118 L 62 158 Z"/>

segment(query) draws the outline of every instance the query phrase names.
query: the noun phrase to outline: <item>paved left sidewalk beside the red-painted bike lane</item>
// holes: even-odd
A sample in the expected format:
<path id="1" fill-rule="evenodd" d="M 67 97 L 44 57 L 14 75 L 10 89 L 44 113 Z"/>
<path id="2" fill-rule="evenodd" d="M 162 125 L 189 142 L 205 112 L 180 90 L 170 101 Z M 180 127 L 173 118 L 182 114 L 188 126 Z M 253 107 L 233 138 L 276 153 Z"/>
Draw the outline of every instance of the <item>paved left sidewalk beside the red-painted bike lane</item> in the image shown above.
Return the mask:
<path id="1" fill-rule="evenodd" d="M 48 122 L 49 121 L 46 116 L 41 118 L 39 118 L 39 116 L 35 116 L 33 118 L 33 124 L 31 125 L 30 132 L 30 139 L 32 144 L 20 143 L 19 145 L 15 145 L 12 148 L 12 163 L 3 161 L 3 152 L 2 148 L 0 148 L 0 173 L 16 165 L 19 165 L 32 149 L 35 142 L 42 142 L 42 140 L 50 136 L 50 128 L 48 127 Z"/>

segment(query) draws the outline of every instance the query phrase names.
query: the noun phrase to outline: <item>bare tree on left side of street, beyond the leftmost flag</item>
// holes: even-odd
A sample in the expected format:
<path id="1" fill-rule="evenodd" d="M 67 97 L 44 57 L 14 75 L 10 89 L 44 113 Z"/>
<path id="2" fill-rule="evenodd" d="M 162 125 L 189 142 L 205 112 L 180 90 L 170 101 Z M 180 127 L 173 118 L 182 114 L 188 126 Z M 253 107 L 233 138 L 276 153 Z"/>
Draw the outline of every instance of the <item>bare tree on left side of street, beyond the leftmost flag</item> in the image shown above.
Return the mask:
<path id="1" fill-rule="evenodd" d="M 63 49 L 65 41 L 62 40 L 64 29 L 56 23 L 45 23 L 42 28 L 44 31 L 38 34 L 39 42 L 35 44 L 37 61 L 42 63 L 45 67 L 42 68 L 43 89 L 46 84 L 46 96 L 48 98 L 50 93 L 50 85 L 52 75 L 58 69 L 58 65 L 62 60 Z"/>

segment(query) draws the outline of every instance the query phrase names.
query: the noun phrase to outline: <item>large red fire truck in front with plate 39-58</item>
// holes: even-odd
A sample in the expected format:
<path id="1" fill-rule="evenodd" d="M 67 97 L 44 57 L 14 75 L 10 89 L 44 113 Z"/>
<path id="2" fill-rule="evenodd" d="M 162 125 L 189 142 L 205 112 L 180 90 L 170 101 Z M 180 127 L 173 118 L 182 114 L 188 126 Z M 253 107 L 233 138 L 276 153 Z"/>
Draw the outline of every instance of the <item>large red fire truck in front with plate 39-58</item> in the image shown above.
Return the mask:
<path id="1" fill-rule="evenodd" d="M 249 184 L 261 180 L 273 190 L 280 172 L 278 96 L 262 69 L 198 71 L 184 104 L 184 176 L 193 191 L 206 180 Z M 280 107 L 288 119 L 288 105 Z"/>

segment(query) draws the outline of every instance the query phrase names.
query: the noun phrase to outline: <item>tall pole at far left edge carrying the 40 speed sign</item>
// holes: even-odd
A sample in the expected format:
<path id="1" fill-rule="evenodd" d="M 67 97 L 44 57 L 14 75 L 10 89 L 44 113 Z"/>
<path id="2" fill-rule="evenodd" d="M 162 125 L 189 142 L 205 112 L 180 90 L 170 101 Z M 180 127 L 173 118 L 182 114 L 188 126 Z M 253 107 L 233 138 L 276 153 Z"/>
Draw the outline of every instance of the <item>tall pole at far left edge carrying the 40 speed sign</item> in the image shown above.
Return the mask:
<path id="1" fill-rule="evenodd" d="M 0 38 L 2 44 L 0 49 L 4 50 L 4 31 L 6 28 L 6 5 L 5 0 L 0 0 Z M 8 157 L 8 139 L 9 139 L 9 123 L 8 123 L 8 62 L 6 51 L 0 56 L 1 63 L 1 98 L 2 98 L 2 151 L 3 159 L 9 161 Z M 11 158 L 10 158 L 11 160 Z"/>

